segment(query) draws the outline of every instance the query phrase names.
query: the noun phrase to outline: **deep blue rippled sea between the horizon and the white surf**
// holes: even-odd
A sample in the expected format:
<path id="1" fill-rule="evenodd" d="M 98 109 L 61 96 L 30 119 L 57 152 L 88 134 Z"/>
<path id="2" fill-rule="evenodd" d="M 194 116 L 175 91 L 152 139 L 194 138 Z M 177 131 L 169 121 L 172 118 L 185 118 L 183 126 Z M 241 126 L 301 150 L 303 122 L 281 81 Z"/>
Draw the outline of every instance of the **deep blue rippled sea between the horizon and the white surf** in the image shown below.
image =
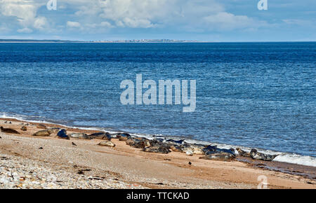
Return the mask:
<path id="1" fill-rule="evenodd" d="M 0 43 L 0 112 L 316 157 L 316 43 Z M 196 80 L 197 107 L 128 105 L 122 80 Z"/>

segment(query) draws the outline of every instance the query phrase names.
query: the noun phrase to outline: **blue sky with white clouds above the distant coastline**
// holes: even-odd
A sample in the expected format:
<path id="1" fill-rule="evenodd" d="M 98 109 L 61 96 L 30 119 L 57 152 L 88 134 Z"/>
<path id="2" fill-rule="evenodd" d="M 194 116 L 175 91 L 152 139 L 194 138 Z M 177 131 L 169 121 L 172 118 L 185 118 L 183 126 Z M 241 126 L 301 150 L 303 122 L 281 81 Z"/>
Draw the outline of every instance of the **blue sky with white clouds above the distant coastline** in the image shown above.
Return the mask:
<path id="1" fill-rule="evenodd" d="M 315 0 L 259 1 L 0 0 L 0 38 L 316 41 Z"/>

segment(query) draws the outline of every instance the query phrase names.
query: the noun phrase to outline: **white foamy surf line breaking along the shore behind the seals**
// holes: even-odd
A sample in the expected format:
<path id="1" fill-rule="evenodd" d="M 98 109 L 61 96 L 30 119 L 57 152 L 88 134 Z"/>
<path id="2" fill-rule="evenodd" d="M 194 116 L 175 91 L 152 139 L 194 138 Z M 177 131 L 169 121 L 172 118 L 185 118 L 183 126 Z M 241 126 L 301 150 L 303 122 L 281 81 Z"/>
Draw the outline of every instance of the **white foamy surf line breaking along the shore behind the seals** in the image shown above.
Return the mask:
<path id="1" fill-rule="evenodd" d="M 11 118 L 11 119 L 17 119 L 17 120 L 21 120 L 25 122 L 32 122 L 32 123 L 48 123 L 48 124 L 54 124 L 54 125 L 62 125 L 59 123 L 51 123 L 49 121 L 44 120 L 44 118 L 39 117 L 39 116 L 23 116 L 23 115 L 18 115 L 15 113 L 0 112 L 0 118 L 8 118 L 8 119 Z M 77 128 L 80 130 L 98 130 L 98 131 L 104 131 L 104 132 L 110 132 L 110 133 L 121 132 L 121 131 L 112 130 L 112 129 L 108 129 L 104 127 L 78 127 L 78 126 L 67 126 L 67 125 L 62 125 L 62 126 L 68 127 L 68 128 Z M 135 137 L 145 137 L 147 139 L 154 139 L 154 138 L 185 139 L 185 141 L 189 144 L 204 144 L 204 145 L 211 144 L 211 145 L 218 146 L 218 148 L 225 148 L 225 149 L 242 148 L 244 151 L 248 151 L 248 152 L 251 151 L 251 148 L 245 147 L 245 146 L 235 146 L 235 145 L 230 145 L 230 144 L 217 144 L 217 143 L 211 143 L 209 141 L 187 139 L 185 137 L 166 136 L 164 134 L 139 134 L 139 133 L 129 133 L 129 134 Z M 261 148 L 257 148 L 257 150 L 258 152 L 261 152 L 261 153 L 278 155 L 277 158 L 275 158 L 275 160 L 273 161 L 287 162 L 287 163 L 296 164 L 296 165 L 316 167 L 316 158 L 308 156 L 308 155 L 298 155 L 296 153 L 284 153 L 284 152 L 278 152 L 278 151 L 265 150 Z"/>

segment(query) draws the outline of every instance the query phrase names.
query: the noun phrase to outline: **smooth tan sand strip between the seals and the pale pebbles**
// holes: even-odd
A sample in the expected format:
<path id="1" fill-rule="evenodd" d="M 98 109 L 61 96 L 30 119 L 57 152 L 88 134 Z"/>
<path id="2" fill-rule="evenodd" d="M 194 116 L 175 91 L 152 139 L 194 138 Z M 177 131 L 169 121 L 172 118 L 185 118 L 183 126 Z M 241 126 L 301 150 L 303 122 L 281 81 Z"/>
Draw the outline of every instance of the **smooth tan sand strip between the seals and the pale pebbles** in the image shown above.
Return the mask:
<path id="1" fill-rule="evenodd" d="M 4 123 L 5 120 L 12 123 Z M 21 123 L 29 123 L 27 132 L 20 130 Z M 92 168 L 92 171 L 100 172 L 89 172 L 95 173 L 95 176 L 100 176 L 103 172 L 119 174 L 119 178 L 114 179 L 118 178 L 119 181 L 145 188 L 256 188 L 259 175 L 268 177 L 268 188 L 316 188 L 315 167 L 240 158 L 232 162 L 201 160 L 200 155 L 189 157 L 176 152 L 166 155 L 145 153 L 117 139 L 112 139 L 116 146 L 109 148 L 97 146 L 100 142 L 97 139 L 62 140 L 52 136 L 32 137 L 32 133 L 41 130 L 37 128 L 39 123 L 0 118 L 0 124 L 21 133 L 1 133 L 0 154 L 54 163 L 59 167 L 66 165 L 67 168 L 72 168 L 72 172 L 77 170 L 73 169 L 74 165 L 88 167 Z M 67 132 L 99 132 L 49 123 L 45 125 L 65 128 Z M 77 146 L 72 146 L 72 142 Z M 44 148 L 41 152 L 40 147 Z M 56 152 L 56 149 L 63 153 Z M 188 162 L 192 162 L 192 165 L 188 165 Z M 154 183 L 154 180 L 158 183 Z"/>

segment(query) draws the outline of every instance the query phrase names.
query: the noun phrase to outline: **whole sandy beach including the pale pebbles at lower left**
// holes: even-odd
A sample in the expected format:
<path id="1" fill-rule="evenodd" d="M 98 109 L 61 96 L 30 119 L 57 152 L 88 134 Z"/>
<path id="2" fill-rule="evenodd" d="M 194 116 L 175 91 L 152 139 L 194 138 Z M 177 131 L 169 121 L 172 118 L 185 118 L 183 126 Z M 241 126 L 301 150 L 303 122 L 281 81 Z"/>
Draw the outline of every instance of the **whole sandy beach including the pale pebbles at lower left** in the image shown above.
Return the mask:
<path id="1" fill-rule="evenodd" d="M 11 123 L 9 123 L 9 120 Z M 8 121 L 8 122 L 6 122 Z M 2 119 L 0 125 L 21 134 L 0 133 L 0 188 L 257 188 L 266 176 L 268 188 L 316 189 L 315 167 L 282 162 L 232 162 L 199 159 L 185 153 L 146 153 L 112 139 L 33 137 L 41 129 L 25 121 Z M 45 124 L 47 127 L 60 125 Z M 65 128 L 68 133 L 96 131 Z M 189 164 L 191 163 L 191 165 Z"/>

